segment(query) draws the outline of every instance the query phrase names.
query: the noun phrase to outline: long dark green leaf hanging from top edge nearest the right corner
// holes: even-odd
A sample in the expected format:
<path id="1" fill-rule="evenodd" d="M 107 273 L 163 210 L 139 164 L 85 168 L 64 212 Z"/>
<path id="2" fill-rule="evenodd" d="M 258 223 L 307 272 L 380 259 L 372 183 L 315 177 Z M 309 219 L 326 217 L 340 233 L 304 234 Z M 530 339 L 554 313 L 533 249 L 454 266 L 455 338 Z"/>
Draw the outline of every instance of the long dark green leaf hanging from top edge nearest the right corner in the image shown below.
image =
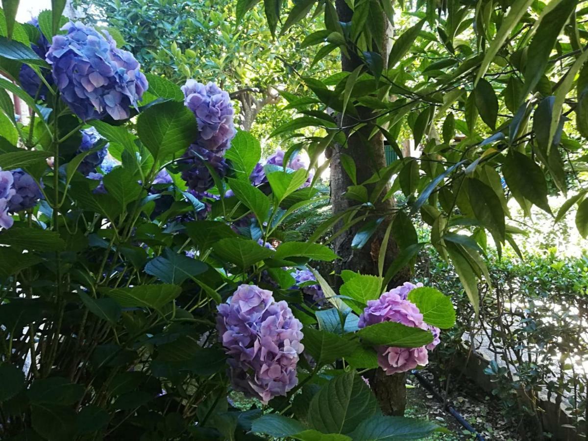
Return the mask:
<path id="1" fill-rule="evenodd" d="M 526 67 L 524 69 L 524 96 L 531 92 L 542 78 L 549 55 L 553 51 L 553 46 L 557 42 L 557 37 L 562 32 L 572 11 L 576 8 L 576 0 L 560 1 L 551 11 L 549 11 L 541 20 L 537 31 L 533 36 L 528 48 Z M 558 118 L 559 121 L 559 118 Z"/>

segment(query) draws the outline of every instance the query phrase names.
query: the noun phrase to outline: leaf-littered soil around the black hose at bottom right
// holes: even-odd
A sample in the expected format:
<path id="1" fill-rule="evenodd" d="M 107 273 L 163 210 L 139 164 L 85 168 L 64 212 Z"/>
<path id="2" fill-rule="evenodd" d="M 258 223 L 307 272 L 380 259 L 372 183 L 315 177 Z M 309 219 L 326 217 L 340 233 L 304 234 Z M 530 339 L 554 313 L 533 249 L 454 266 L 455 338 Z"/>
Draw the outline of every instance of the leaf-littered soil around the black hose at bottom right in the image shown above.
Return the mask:
<path id="1" fill-rule="evenodd" d="M 432 377 L 426 371 L 422 373 L 429 379 Z M 455 417 L 443 409 L 443 404 L 420 385 L 415 376 L 409 376 L 407 385 L 409 389 L 406 391 L 405 416 L 429 420 L 448 430 L 447 433 L 436 433 L 427 437 L 426 440 L 473 441 L 476 439 L 475 434 L 466 430 Z M 495 397 L 479 390 L 469 380 L 462 378 L 459 390 L 449 392 L 449 400 L 453 403 L 453 408 L 477 430 L 483 439 L 520 441 L 516 427 L 505 420 Z"/>

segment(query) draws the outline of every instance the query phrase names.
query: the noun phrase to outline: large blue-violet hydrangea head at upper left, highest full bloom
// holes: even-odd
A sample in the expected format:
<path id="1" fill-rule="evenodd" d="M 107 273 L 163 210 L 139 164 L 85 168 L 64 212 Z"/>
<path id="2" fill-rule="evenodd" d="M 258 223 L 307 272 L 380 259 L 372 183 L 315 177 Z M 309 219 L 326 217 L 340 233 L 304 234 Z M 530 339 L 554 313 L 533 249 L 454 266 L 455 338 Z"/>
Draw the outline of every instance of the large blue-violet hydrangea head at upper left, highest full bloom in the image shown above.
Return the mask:
<path id="1" fill-rule="evenodd" d="M 83 121 L 129 118 L 129 107 L 141 101 L 148 88 L 145 75 L 131 52 L 80 22 L 69 22 L 55 35 L 46 55 L 53 79 L 69 108 Z"/>

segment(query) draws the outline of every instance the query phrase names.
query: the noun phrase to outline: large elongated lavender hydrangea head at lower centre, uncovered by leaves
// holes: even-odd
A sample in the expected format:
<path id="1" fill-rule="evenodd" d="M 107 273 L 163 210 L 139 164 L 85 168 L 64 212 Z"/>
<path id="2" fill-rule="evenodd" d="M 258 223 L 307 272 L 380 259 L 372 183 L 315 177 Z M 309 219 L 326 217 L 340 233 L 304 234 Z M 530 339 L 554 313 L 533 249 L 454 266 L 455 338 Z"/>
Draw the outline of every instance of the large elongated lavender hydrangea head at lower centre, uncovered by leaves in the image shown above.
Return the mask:
<path id="1" fill-rule="evenodd" d="M 268 403 L 296 386 L 302 323 L 288 303 L 276 302 L 271 291 L 258 286 L 240 285 L 218 311 L 216 328 L 230 355 L 235 390 Z"/>

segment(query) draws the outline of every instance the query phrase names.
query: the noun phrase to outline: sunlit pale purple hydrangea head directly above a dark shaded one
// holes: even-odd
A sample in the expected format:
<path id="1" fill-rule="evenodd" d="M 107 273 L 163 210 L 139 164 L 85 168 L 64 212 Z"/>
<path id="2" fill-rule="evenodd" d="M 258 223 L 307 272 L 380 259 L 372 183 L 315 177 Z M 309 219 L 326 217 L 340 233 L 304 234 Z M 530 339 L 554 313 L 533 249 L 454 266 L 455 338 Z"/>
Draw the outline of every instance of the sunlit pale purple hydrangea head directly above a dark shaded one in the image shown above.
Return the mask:
<path id="1" fill-rule="evenodd" d="M 220 153 L 230 147 L 230 140 L 235 137 L 233 124 L 233 104 L 230 96 L 214 83 L 206 86 L 196 80 L 189 79 L 182 86 L 184 103 L 198 121 L 198 142 L 210 151 Z"/>

